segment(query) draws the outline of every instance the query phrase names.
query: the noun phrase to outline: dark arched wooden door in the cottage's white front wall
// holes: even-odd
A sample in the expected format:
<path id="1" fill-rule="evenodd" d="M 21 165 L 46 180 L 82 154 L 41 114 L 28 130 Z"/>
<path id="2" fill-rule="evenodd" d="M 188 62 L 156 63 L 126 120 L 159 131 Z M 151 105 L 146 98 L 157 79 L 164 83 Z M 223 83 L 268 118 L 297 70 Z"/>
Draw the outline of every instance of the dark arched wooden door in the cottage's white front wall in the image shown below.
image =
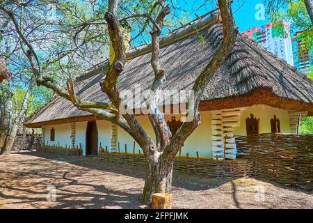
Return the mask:
<path id="1" fill-rule="evenodd" d="M 95 121 L 90 121 L 87 125 L 86 155 L 98 155 L 98 130 Z"/>

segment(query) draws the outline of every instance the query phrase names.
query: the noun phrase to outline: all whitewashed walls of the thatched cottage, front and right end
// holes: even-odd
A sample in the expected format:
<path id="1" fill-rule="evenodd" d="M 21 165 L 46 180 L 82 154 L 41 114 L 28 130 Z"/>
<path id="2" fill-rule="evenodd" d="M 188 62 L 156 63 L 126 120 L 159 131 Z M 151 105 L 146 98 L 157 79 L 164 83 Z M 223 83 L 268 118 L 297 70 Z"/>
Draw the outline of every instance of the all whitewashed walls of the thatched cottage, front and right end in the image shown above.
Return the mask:
<path id="1" fill-rule="evenodd" d="M 191 134 L 185 141 L 182 147 L 182 156 L 196 157 L 196 152 L 199 152 L 200 157 L 212 157 L 212 144 L 211 144 L 211 112 L 200 112 L 201 125 Z M 246 135 L 246 118 L 250 117 L 250 114 L 254 114 L 256 118 L 260 118 L 260 133 L 271 132 L 271 118 L 274 115 L 280 119 L 280 130 L 284 133 L 290 133 L 289 112 L 284 109 L 278 109 L 269 107 L 266 105 L 255 105 L 252 107 L 246 107 L 243 111 L 240 121 L 240 127 L 234 128 L 235 135 Z M 172 116 L 179 120 L 179 115 L 167 115 L 166 121 L 169 121 Z M 143 125 L 147 134 L 154 138 L 154 131 L 147 116 L 139 116 L 138 121 Z M 102 144 L 103 148 L 108 146 L 111 151 L 111 126 L 108 121 L 97 121 L 98 129 L 98 143 Z M 55 141 L 50 141 L 50 130 L 54 127 Z M 86 155 L 86 128 L 87 122 L 76 123 L 76 142 L 75 144 L 83 148 L 83 155 Z M 134 139 L 124 130 L 118 127 L 118 141 L 120 142 L 120 152 L 125 152 L 125 144 L 127 145 L 127 153 L 133 153 L 134 151 Z M 45 144 L 61 146 L 70 145 L 70 123 L 62 125 L 46 125 L 45 126 Z M 98 145 L 98 147 L 99 147 Z M 143 153 L 138 144 L 135 144 L 135 153 Z"/>

